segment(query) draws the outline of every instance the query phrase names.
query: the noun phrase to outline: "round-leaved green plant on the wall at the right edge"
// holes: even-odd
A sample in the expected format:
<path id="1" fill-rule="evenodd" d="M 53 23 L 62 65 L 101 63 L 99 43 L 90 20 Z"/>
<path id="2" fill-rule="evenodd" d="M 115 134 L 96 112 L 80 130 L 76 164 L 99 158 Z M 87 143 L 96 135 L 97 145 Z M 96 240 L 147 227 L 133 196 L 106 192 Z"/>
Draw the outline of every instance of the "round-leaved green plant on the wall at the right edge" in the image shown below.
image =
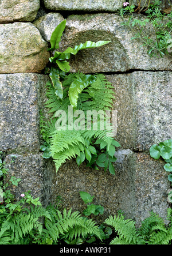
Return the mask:
<path id="1" fill-rule="evenodd" d="M 166 161 L 165 170 L 172 173 L 172 140 L 166 140 L 160 142 L 159 145 L 154 144 L 151 146 L 150 155 L 154 159 L 162 157 Z M 172 182 L 172 174 L 169 174 L 168 179 Z M 168 199 L 172 202 L 172 191 L 170 191 Z"/>

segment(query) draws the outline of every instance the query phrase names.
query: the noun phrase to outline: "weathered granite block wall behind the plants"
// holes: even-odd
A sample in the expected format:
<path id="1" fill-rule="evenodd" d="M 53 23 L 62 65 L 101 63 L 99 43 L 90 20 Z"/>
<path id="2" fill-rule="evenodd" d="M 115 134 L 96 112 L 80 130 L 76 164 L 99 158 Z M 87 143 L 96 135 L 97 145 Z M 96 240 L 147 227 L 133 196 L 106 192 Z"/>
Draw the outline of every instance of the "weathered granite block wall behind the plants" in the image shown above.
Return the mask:
<path id="1" fill-rule="evenodd" d="M 162 1 L 162 9 L 168 3 Z M 95 195 L 95 204 L 104 206 L 102 219 L 123 210 L 139 224 L 150 210 L 165 218 L 169 207 L 164 162 L 152 159 L 148 150 L 172 137 L 172 61 L 148 57 L 147 48 L 131 40 L 132 32 L 121 25 L 117 13 L 122 4 L 119 0 L 1 1 L 0 150 L 7 163 L 12 155 L 17 157 L 9 167 L 9 176 L 22 179 L 19 187 L 13 187 L 17 198 L 30 190 L 44 205 L 61 196 L 62 208 L 83 210 L 79 191 L 87 191 Z M 115 139 L 122 145 L 116 152 L 115 176 L 84 164 L 78 167 L 75 160 L 67 161 L 56 174 L 52 161 L 40 152 L 48 42 L 64 18 L 67 27 L 60 51 L 87 40 L 111 40 L 101 48 L 79 52 L 70 65 L 72 72 L 103 72 L 114 86 Z"/>

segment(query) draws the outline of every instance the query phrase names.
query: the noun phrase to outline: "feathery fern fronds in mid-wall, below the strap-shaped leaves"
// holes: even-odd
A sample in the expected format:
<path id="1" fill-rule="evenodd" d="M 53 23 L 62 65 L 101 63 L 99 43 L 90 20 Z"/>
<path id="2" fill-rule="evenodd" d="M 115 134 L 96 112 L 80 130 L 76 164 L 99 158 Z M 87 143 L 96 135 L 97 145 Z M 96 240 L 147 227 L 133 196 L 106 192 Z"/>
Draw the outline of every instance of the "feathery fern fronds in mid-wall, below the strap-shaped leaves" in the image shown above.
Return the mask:
<path id="1" fill-rule="evenodd" d="M 54 86 L 48 82 L 46 84 L 46 96 L 48 100 L 45 106 L 49 108 L 49 113 L 52 113 L 52 119 L 50 121 L 43 122 L 41 120 L 41 133 L 45 142 L 50 146 L 50 156 L 52 156 L 54 163 L 56 165 L 56 170 L 60 168 L 61 164 L 65 163 L 67 159 L 72 159 L 72 157 L 80 156 L 80 152 L 84 152 L 85 141 L 92 141 L 96 138 L 101 138 L 106 144 L 107 149 L 110 147 L 113 138 L 109 135 L 109 131 L 100 129 L 100 119 L 97 116 L 97 130 L 69 130 L 67 122 L 67 130 L 56 130 L 57 119 L 55 114 L 57 110 L 65 111 L 68 120 L 68 107 L 70 106 L 70 101 L 68 93 L 70 91 L 70 86 L 74 81 L 84 81 L 87 80 L 83 73 L 69 74 L 65 77 L 62 86 L 64 89 L 64 98 L 61 101 L 56 95 L 56 89 Z M 96 74 L 92 76 L 94 78 L 91 85 L 87 86 L 85 89 L 80 89 L 77 108 L 76 110 L 83 110 L 85 116 L 87 116 L 87 110 L 111 110 L 112 99 L 114 98 L 113 87 L 110 82 L 105 79 L 103 74 Z M 79 86 L 79 85 L 78 85 Z M 73 117 L 73 121 L 75 118 Z M 86 120 L 87 121 L 87 120 Z M 93 120 L 91 119 L 93 123 Z"/>

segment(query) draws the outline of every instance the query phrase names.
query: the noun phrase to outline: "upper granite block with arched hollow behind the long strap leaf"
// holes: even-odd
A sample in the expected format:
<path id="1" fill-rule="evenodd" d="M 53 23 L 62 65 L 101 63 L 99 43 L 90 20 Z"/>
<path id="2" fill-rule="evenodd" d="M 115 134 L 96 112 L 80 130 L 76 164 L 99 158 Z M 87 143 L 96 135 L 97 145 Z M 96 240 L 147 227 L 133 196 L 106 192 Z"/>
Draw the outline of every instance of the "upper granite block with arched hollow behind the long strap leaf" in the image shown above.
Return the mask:
<path id="1" fill-rule="evenodd" d="M 140 18 L 143 18 L 140 15 Z M 131 40 L 133 32 L 121 25 L 118 14 L 72 15 L 67 18 L 67 27 L 58 51 L 74 47 L 88 40 L 110 40 L 105 46 L 77 53 L 70 61 L 71 72 L 83 73 L 127 71 L 127 70 L 172 70 L 171 57 L 151 58 L 142 42 Z M 153 35 L 150 27 L 147 35 Z"/>

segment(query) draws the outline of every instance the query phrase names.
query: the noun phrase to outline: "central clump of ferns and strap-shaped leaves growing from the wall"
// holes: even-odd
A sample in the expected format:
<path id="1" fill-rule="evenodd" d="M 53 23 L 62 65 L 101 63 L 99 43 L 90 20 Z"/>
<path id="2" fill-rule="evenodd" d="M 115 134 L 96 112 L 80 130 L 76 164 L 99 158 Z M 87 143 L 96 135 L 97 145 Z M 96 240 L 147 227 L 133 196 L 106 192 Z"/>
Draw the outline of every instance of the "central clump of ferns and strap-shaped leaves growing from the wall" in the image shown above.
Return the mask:
<path id="1" fill-rule="evenodd" d="M 59 47 L 66 21 L 62 21 L 50 39 L 52 54 Z M 112 164 L 116 161 L 115 147 L 120 144 L 112 135 L 110 122 L 114 91 L 103 74 L 67 73 L 70 70 L 69 58 L 80 50 L 104 46 L 110 41 L 91 42 L 64 52 L 55 51 L 50 57 L 49 76 L 46 84 L 48 100 L 45 106 L 52 118 L 45 121 L 41 115 L 41 133 L 44 138 L 43 157 L 52 157 L 56 169 L 67 159 L 76 158 L 77 164 L 87 161 L 87 166 L 115 174 Z M 98 166 L 98 167 L 97 167 Z"/>

